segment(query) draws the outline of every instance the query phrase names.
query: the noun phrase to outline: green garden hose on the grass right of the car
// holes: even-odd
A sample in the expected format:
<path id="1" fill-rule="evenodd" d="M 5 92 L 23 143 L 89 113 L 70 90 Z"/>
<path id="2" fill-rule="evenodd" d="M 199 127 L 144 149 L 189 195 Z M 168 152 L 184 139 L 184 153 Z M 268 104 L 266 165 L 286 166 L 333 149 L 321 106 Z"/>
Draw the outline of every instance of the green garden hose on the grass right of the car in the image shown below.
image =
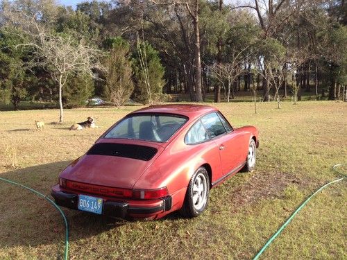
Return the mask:
<path id="1" fill-rule="evenodd" d="M 330 184 L 335 183 L 335 182 L 339 182 L 341 180 L 346 179 L 347 175 L 344 173 L 341 173 L 340 171 L 337 170 L 337 167 L 339 166 L 343 166 L 344 164 L 335 164 L 332 168 L 334 169 L 334 171 L 336 171 L 337 173 L 343 175 L 344 177 L 341 177 L 337 180 L 333 180 L 332 182 L 328 182 L 327 184 L 324 184 L 322 187 L 320 187 L 319 189 L 317 189 L 316 191 L 314 191 L 314 193 L 312 193 L 312 195 L 310 197 L 308 197 L 303 203 L 301 203 L 301 205 L 296 209 L 296 211 L 294 211 L 293 214 L 291 214 L 291 216 L 287 219 L 287 221 L 277 230 L 277 232 L 275 234 L 273 234 L 271 236 L 271 238 L 265 243 L 265 245 L 260 249 L 260 251 L 255 255 L 255 257 L 253 258 L 253 260 L 257 260 L 260 255 L 264 252 L 264 250 L 272 243 L 273 240 L 276 239 L 276 237 L 280 234 L 280 232 L 282 232 L 283 229 L 285 229 L 285 227 L 291 222 L 291 220 L 294 218 L 294 216 L 298 213 L 298 211 L 300 211 L 306 204 L 307 202 L 309 202 L 311 200 L 311 198 L 313 196 L 316 195 L 316 193 L 319 193 L 319 191 L 321 191 L 322 189 L 324 189 L 325 187 L 328 187 Z"/>

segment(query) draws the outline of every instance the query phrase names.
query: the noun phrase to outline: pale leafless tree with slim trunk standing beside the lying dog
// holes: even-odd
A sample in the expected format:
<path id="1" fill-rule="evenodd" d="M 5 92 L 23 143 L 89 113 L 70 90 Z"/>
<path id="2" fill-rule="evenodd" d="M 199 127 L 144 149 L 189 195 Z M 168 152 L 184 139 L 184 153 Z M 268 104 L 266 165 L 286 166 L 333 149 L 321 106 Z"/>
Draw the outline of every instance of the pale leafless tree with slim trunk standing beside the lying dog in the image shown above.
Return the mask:
<path id="1" fill-rule="evenodd" d="M 46 3 L 47 2 L 47 3 Z M 51 10 L 46 10 L 48 2 Z M 58 83 L 60 116 L 63 122 L 62 89 L 69 76 L 90 74 L 95 78 L 92 69 L 103 69 L 99 63 L 101 52 L 89 46 L 83 37 L 77 37 L 71 31 L 55 33 L 52 24 L 55 21 L 53 1 L 33 1 L 35 8 L 24 9 L 20 1 L 8 3 L 3 7 L 3 17 L 6 20 L 5 30 L 22 37 L 22 44 L 11 46 L 31 46 L 33 59 L 28 60 L 27 67 L 44 67 Z"/>

